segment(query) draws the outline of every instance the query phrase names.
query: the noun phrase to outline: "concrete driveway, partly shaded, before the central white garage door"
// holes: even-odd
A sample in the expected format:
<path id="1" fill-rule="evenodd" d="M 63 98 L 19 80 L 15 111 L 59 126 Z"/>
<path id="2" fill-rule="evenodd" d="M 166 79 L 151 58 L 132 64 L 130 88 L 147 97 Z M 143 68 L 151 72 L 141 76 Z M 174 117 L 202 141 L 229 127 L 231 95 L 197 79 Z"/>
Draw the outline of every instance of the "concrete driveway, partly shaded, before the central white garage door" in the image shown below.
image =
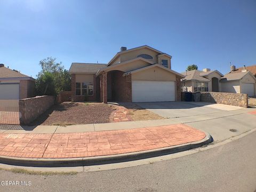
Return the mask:
<path id="1" fill-rule="evenodd" d="M 165 118 L 188 117 L 243 109 L 242 107 L 207 102 L 141 102 L 136 104 Z"/>

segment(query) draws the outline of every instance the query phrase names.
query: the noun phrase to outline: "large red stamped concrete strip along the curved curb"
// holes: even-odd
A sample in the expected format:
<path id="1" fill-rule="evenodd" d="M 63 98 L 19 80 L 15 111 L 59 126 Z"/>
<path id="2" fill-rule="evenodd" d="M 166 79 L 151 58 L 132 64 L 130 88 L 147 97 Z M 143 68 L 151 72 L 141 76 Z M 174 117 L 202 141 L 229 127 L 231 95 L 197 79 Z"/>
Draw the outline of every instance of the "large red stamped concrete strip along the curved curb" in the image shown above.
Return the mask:
<path id="1" fill-rule="evenodd" d="M 205 136 L 204 132 L 184 124 L 82 133 L 0 133 L 0 155 L 28 158 L 114 155 L 181 145 Z"/>

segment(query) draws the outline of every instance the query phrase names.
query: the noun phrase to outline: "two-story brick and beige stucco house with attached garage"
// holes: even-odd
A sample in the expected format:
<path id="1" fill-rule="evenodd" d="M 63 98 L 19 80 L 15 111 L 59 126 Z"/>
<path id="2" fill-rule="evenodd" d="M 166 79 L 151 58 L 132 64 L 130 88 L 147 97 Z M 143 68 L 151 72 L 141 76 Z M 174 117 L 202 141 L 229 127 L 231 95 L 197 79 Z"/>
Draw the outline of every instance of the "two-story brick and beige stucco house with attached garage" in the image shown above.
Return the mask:
<path id="1" fill-rule="evenodd" d="M 121 47 L 107 64 L 72 63 L 73 101 L 179 101 L 180 79 L 171 70 L 171 55 L 143 45 Z"/>

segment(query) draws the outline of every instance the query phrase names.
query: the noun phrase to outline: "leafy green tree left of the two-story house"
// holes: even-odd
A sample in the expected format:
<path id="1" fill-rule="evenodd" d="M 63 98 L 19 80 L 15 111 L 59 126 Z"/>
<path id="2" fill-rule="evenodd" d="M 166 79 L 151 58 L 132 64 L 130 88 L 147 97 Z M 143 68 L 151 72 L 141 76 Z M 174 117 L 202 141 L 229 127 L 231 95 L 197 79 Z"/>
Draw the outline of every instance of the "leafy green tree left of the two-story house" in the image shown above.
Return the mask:
<path id="1" fill-rule="evenodd" d="M 57 95 L 60 91 L 71 90 L 71 76 L 56 58 L 48 57 L 39 62 L 41 71 L 36 79 L 37 95 Z"/>

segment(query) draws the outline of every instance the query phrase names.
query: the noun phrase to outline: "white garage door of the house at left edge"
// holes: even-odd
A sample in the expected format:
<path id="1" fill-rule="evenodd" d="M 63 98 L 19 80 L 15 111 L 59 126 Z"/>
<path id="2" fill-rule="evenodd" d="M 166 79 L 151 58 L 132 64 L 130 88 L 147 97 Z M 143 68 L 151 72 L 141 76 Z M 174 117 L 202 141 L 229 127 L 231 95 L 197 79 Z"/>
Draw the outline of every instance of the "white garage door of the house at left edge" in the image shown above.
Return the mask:
<path id="1" fill-rule="evenodd" d="M 19 99 L 20 98 L 19 84 L 0 84 L 0 99 Z"/>

